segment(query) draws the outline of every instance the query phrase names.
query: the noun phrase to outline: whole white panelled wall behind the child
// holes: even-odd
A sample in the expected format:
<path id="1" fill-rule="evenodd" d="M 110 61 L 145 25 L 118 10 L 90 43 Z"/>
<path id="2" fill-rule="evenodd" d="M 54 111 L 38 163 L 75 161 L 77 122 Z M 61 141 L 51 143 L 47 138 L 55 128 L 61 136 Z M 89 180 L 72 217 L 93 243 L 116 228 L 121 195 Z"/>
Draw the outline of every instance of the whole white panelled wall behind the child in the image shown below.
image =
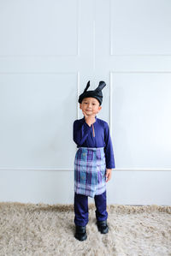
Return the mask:
<path id="1" fill-rule="evenodd" d="M 171 2 L 0 1 L 0 201 L 73 203 L 78 96 L 105 80 L 110 204 L 171 205 Z"/>

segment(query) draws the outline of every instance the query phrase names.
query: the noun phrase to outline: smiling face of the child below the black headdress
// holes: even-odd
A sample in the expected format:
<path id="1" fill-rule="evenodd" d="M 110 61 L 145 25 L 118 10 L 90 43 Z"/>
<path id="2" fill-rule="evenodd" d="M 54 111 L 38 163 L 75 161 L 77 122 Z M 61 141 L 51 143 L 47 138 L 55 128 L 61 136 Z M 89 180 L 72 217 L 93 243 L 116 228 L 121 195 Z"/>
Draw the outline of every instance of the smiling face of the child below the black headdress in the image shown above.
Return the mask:
<path id="1" fill-rule="evenodd" d="M 80 110 L 85 111 L 87 116 L 96 115 L 101 109 L 102 106 L 100 106 L 97 98 L 83 98 L 80 104 Z"/>

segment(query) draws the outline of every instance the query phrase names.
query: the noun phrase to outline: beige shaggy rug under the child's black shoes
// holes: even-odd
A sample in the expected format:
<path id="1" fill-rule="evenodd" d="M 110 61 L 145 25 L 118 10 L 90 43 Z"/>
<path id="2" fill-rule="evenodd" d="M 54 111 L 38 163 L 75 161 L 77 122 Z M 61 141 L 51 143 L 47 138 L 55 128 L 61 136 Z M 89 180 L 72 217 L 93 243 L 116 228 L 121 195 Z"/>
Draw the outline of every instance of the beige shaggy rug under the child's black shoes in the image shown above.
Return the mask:
<path id="1" fill-rule="evenodd" d="M 90 205 L 88 238 L 74 238 L 73 205 L 0 203 L 0 255 L 171 255 L 171 206 L 109 205 L 109 233 L 97 231 Z"/>

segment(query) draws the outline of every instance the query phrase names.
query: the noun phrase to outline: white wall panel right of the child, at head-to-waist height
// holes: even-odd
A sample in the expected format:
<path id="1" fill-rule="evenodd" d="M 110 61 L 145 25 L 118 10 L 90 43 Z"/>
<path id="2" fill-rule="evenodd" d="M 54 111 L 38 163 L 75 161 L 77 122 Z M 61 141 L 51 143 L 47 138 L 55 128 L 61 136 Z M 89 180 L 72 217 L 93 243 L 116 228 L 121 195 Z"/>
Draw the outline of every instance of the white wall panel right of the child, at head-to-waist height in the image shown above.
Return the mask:
<path id="1" fill-rule="evenodd" d="M 112 137 L 119 169 L 170 169 L 171 74 L 112 74 Z"/>

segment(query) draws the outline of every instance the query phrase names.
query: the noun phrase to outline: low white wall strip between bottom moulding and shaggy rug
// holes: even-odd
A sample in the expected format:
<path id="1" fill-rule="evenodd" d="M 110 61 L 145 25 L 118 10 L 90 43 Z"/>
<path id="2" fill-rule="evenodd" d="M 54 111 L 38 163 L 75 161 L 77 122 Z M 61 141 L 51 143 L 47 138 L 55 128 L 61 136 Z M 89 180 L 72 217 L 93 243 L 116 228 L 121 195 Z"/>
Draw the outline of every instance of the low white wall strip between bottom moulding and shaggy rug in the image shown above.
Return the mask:
<path id="1" fill-rule="evenodd" d="M 1 170 L 0 174 L 0 201 L 74 203 L 73 171 Z M 170 179 L 171 172 L 165 170 L 116 170 L 107 183 L 108 204 L 171 205 Z"/>

